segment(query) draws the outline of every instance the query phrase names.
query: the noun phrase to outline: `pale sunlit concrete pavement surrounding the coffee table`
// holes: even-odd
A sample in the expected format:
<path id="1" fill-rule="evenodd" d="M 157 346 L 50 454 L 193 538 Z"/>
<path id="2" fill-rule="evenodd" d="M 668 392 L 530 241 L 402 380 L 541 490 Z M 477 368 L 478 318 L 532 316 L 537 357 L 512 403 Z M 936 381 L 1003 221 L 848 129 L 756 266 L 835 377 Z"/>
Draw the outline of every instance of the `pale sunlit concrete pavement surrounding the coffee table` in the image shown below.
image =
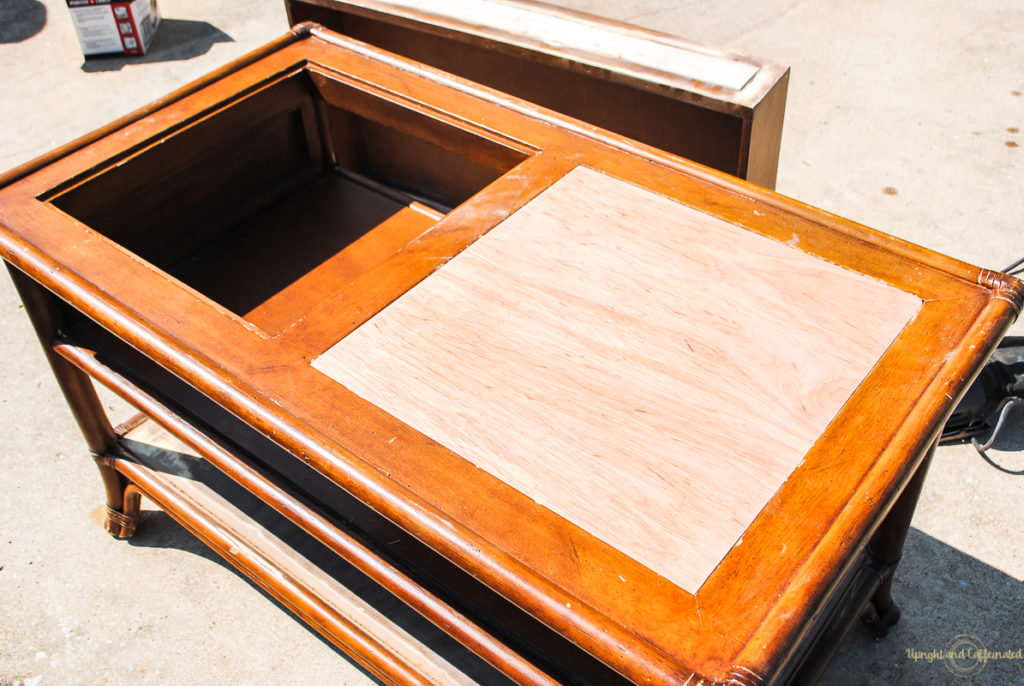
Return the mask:
<path id="1" fill-rule="evenodd" d="M 1024 256 L 1019 0 L 557 4 L 791 65 L 780 192 L 981 266 Z M 161 6 L 150 55 L 84 62 L 62 2 L 0 0 L 0 168 L 287 29 L 280 0 Z M 95 468 L 6 276 L 0 317 L 0 686 L 367 683 L 166 515 L 131 542 L 105 534 Z M 1002 469 L 939 451 L 895 589 L 903 618 L 883 641 L 854 632 L 824 683 L 1024 683 L 1020 659 L 966 678 L 912 658 L 961 634 L 1024 648 L 1015 419 L 991 453 Z"/>

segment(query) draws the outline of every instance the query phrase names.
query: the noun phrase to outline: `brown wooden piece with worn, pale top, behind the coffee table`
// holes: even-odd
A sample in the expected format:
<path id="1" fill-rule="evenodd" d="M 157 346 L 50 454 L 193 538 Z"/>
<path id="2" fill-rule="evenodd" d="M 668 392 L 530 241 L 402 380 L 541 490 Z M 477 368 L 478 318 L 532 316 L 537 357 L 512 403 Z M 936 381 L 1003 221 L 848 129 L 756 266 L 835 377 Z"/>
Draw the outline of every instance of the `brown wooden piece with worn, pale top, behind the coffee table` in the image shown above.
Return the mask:
<path id="1" fill-rule="evenodd" d="M 774 187 L 787 68 L 529 0 L 286 0 L 372 45 Z"/>

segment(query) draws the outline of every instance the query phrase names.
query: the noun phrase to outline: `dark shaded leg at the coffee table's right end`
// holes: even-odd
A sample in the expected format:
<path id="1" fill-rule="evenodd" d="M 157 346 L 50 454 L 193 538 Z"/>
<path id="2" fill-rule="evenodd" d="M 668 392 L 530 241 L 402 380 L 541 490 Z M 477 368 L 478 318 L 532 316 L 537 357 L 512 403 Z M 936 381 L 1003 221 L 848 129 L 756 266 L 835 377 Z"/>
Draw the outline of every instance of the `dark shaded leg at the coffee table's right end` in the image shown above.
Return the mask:
<path id="1" fill-rule="evenodd" d="M 934 454 L 935 444 L 929 448 L 918 471 L 910 477 L 910 481 L 889 511 L 885 521 L 867 544 L 867 550 L 873 558 L 872 566 L 882 576 L 882 584 L 871 597 L 862 620 L 878 637 L 888 634 L 889 630 L 899 621 L 900 610 L 892 597 L 893 576 L 903 554 L 903 544 L 910 530 L 910 519 L 918 507 L 918 499 L 921 497 L 925 476 L 928 474 L 928 467 L 932 463 Z"/>

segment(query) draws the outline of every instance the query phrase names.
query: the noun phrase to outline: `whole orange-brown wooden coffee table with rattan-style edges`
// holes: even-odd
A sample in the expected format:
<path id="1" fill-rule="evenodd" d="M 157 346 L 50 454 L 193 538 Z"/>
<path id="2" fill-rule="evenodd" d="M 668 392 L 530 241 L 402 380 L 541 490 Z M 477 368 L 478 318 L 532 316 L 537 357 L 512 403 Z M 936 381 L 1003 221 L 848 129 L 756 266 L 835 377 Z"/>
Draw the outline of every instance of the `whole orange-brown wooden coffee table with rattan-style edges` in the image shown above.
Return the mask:
<path id="1" fill-rule="evenodd" d="M 111 532 L 147 496 L 393 683 L 813 681 L 895 620 L 1021 304 L 309 25 L 8 173 L 0 226 Z"/>

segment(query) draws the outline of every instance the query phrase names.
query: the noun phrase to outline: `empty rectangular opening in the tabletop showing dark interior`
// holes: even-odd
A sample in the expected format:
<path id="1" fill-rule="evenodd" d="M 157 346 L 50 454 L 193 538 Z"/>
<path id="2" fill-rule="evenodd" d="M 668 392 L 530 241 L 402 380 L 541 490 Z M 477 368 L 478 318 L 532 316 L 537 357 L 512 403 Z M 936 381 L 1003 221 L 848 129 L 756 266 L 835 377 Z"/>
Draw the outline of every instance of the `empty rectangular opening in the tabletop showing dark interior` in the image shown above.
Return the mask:
<path id="1" fill-rule="evenodd" d="M 50 202 L 272 335 L 526 157 L 303 71 Z"/>

